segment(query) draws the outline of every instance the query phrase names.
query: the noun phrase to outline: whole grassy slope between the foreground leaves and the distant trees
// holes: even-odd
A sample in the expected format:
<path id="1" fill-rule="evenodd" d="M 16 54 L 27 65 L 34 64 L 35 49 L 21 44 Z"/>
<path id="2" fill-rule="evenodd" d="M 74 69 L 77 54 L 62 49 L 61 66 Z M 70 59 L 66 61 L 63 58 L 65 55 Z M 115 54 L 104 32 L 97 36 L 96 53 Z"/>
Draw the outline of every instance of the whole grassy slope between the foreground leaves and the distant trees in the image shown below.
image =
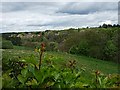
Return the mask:
<path id="1" fill-rule="evenodd" d="M 26 56 L 30 56 L 31 54 L 35 54 L 37 57 L 39 57 L 39 55 L 33 50 L 30 50 L 30 49 L 25 50 L 25 48 L 23 47 L 20 47 L 20 48 L 15 47 L 15 49 L 3 50 L 4 59 L 9 59 L 9 58 L 18 57 L 18 56 L 26 57 Z M 44 58 L 50 57 L 50 56 L 53 56 L 52 60 L 54 60 L 55 64 L 58 66 L 63 66 L 64 64 L 68 63 L 69 60 L 76 60 L 77 67 L 78 68 L 82 67 L 86 69 L 86 71 L 88 72 L 100 70 L 105 74 L 118 73 L 117 63 L 97 60 L 97 59 L 89 58 L 85 56 L 71 55 L 71 54 L 62 53 L 62 52 L 45 52 L 44 53 Z"/>

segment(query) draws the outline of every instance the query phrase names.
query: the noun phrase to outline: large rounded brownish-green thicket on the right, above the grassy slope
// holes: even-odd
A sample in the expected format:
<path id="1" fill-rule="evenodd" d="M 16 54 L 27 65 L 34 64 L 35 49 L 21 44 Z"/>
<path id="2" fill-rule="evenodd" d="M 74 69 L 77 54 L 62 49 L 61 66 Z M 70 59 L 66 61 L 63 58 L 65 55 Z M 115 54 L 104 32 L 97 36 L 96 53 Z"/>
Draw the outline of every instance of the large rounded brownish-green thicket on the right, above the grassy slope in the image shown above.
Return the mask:
<path id="1" fill-rule="evenodd" d="M 63 51 L 102 60 L 117 61 L 118 34 L 116 28 L 81 30 L 63 42 Z"/>

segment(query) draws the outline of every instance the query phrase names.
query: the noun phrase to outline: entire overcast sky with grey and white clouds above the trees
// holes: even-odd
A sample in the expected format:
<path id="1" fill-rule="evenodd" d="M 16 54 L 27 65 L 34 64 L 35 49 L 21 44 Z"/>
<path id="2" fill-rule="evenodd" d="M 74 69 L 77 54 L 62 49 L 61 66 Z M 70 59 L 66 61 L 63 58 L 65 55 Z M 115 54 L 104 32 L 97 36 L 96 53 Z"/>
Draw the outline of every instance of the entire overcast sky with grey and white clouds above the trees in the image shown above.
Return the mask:
<path id="1" fill-rule="evenodd" d="M 118 23 L 117 2 L 4 2 L 0 33 L 94 27 Z"/>

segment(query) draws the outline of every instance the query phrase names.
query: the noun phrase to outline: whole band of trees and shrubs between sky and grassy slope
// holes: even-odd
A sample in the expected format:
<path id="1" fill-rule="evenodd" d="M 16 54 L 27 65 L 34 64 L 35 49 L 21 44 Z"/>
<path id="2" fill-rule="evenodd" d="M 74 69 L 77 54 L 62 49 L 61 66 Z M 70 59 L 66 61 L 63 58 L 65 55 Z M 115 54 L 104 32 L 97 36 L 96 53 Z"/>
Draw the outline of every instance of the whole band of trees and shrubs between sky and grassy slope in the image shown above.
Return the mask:
<path id="1" fill-rule="evenodd" d="M 120 25 L 103 24 L 94 28 L 70 28 L 45 32 L 4 33 L 2 37 L 13 45 L 36 48 L 44 42 L 47 51 L 60 51 L 118 62 Z M 18 35 L 23 37 L 18 37 Z M 26 38 L 27 35 L 32 37 Z"/>

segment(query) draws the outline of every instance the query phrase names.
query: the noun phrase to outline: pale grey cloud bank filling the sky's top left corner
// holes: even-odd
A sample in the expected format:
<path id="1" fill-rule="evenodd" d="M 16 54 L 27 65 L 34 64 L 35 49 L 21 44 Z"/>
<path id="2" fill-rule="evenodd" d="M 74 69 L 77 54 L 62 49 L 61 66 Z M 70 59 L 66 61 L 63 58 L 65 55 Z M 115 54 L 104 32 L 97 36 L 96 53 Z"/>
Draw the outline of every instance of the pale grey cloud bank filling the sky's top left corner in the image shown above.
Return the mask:
<path id="1" fill-rule="evenodd" d="M 58 8 L 64 3 L 56 3 L 56 2 L 3 2 L 0 10 L 2 12 L 16 12 L 16 11 L 33 11 L 33 12 L 41 12 L 48 9 L 53 10 Z"/>

